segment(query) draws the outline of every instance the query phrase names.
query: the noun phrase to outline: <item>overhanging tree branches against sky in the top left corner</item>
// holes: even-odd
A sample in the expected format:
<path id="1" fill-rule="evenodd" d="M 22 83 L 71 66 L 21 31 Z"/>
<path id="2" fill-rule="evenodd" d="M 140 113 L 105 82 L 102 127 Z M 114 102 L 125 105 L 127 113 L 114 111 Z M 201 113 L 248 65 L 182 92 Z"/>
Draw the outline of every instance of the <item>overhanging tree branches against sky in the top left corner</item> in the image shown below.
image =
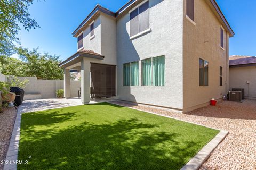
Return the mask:
<path id="1" fill-rule="evenodd" d="M 13 43 L 19 43 L 19 23 L 27 31 L 39 27 L 28 13 L 32 3 L 33 0 L 0 0 L 0 56 L 11 56 L 15 52 Z"/>

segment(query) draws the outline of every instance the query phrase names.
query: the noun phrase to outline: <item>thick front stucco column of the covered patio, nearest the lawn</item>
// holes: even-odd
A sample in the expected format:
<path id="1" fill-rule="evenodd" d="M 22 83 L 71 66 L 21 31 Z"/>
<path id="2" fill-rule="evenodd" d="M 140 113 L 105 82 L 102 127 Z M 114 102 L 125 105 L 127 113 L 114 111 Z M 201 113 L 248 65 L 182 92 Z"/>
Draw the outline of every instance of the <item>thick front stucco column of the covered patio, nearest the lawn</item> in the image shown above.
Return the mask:
<path id="1" fill-rule="evenodd" d="M 81 99 L 83 104 L 90 102 L 90 62 L 86 58 L 81 61 Z"/>

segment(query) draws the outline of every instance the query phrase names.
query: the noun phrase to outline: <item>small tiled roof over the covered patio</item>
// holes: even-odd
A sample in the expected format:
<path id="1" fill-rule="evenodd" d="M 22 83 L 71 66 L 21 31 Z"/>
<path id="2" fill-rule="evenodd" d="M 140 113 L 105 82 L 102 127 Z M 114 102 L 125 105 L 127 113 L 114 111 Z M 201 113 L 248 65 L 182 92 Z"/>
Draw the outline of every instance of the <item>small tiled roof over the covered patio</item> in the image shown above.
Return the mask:
<path id="1" fill-rule="evenodd" d="M 71 55 L 69 58 L 59 63 L 58 66 L 62 67 L 68 62 L 78 60 L 81 57 L 96 58 L 100 60 L 104 59 L 104 56 L 102 54 L 96 53 L 93 50 L 79 49 L 75 54 Z"/>

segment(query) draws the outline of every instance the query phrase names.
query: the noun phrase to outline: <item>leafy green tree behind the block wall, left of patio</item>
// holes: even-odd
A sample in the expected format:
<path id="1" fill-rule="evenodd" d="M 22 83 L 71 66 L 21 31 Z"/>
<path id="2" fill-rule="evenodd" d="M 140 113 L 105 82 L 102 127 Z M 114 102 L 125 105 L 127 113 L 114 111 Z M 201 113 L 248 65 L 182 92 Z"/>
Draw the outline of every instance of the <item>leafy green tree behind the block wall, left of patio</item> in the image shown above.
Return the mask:
<path id="1" fill-rule="evenodd" d="M 58 67 L 59 56 L 38 53 L 37 49 L 17 48 L 20 60 L 2 57 L 0 72 L 5 75 L 37 77 L 37 79 L 63 80 L 63 69 Z"/>

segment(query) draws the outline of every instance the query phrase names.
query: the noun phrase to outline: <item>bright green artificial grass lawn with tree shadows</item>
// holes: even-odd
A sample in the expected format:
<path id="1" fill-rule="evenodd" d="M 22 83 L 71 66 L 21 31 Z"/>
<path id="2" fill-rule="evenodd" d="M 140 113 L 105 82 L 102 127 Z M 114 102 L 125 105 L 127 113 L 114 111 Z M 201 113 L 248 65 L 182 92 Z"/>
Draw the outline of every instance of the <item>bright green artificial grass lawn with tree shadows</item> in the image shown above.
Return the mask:
<path id="1" fill-rule="evenodd" d="M 180 169 L 218 133 L 109 103 L 24 113 L 18 169 Z"/>

